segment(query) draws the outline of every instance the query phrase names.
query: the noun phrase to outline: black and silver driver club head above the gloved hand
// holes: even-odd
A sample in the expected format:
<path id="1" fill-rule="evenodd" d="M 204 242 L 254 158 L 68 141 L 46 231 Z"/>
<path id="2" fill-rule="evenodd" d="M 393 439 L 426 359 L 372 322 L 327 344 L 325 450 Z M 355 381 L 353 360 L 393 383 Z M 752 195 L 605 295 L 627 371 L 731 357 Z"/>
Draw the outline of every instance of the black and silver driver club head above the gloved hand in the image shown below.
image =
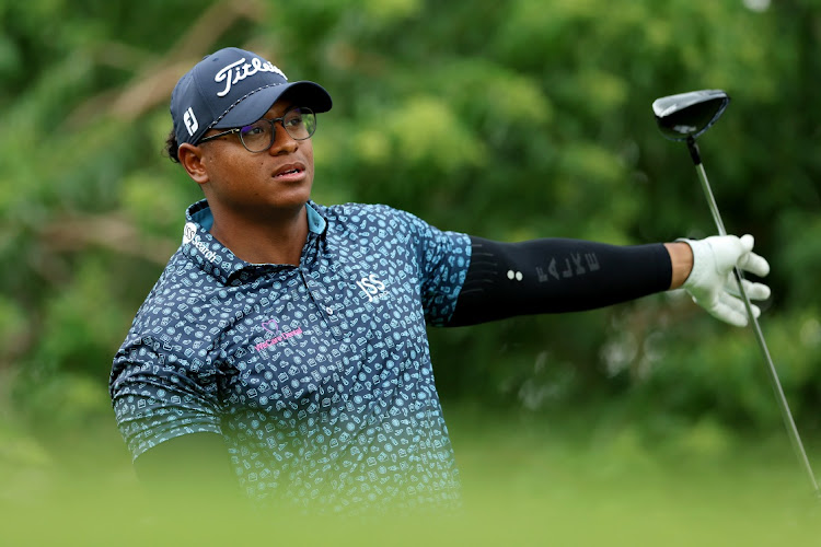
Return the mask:
<path id="1" fill-rule="evenodd" d="M 670 140 L 695 139 L 721 117 L 730 102 L 721 90 L 691 91 L 657 98 L 652 112 L 661 133 Z"/>

